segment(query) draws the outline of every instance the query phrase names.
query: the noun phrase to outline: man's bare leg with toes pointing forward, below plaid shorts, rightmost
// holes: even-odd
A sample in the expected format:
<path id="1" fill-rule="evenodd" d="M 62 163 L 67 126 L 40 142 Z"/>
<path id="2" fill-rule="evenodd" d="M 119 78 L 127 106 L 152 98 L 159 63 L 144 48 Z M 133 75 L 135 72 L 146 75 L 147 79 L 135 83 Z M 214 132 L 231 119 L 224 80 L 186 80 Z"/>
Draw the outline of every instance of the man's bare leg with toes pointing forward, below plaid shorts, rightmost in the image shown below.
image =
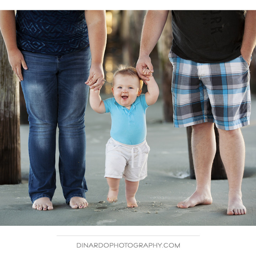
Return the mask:
<path id="1" fill-rule="evenodd" d="M 220 156 L 225 166 L 229 182 L 228 215 L 241 215 L 246 213 L 242 204 L 241 184 L 244 174 L 245 145 L 241 129 L 221 130 Z"/>

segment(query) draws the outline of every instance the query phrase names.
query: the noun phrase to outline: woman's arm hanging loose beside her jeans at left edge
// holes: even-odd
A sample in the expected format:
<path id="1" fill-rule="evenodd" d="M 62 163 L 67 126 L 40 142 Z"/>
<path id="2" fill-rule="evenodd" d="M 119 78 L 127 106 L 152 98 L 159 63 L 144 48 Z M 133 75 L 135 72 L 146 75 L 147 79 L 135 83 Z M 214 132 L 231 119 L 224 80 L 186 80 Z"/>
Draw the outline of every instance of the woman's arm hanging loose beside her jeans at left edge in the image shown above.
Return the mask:
<path id="1" fill-rule="evenodd" d="M 5 46 L 8 53 L 8 58 L 12 70 L 17 75 L 18 79 L 23 80 L 21 66 L 27 69 L 27 64 L 21 51 L 17 47 L 16 42 L 16 24 L 15 12 L 12 10 L 0 11 L 0 29 L 5 41 Z"/>

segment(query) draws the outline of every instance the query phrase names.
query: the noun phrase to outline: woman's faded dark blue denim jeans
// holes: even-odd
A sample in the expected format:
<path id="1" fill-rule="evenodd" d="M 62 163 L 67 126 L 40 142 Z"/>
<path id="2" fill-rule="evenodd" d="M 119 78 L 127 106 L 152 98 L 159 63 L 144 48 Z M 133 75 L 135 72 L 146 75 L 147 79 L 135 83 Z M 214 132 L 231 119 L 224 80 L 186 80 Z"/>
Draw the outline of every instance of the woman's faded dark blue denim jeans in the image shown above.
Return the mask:
<path id="1" fill-rule="evenodd" d="M 56 129 L 59 128 L 59 175 L 66 203 L 85 198 L 84 114 L 91 65 L 90 47 L 65 55 L 22 51 L 28 66 L 23 70 L 22 91 L 30 124 L 29 194 L 31 201 L 52 200 L 56 188 Z"/>

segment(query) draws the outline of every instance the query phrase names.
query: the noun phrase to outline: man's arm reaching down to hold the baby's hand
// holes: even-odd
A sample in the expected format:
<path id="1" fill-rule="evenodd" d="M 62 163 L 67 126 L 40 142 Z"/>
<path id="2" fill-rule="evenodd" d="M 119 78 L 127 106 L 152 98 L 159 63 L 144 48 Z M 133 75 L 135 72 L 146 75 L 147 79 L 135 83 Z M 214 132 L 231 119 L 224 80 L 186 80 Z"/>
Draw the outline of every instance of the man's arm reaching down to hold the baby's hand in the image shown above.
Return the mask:
<path id="1" fill-rule="evenodd" d="M 148 78 L 143 74 L 144 68 L 148 67 L 151 73 L 154 72 L 149 54 L 161 36 L 168 13 L 168 10 L 153 10 L 148 11 L 145 16 L 140 41 L 139 59 L 136 65 L 137 72 L 144 81 L 148 81 Z"/>

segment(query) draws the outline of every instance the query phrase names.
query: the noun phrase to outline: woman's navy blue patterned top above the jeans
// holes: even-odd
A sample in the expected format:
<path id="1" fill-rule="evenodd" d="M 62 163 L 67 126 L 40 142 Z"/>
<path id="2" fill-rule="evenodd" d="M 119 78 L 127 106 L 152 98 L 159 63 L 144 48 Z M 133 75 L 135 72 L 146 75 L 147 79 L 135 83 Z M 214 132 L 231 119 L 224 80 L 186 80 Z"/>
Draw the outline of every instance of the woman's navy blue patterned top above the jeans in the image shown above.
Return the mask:
<path id="1" fill-rule="evenodd" d="M 17 11 L 17 45 L 21 50 L 66 54 L 89 45 L 84 11 Z"/>

